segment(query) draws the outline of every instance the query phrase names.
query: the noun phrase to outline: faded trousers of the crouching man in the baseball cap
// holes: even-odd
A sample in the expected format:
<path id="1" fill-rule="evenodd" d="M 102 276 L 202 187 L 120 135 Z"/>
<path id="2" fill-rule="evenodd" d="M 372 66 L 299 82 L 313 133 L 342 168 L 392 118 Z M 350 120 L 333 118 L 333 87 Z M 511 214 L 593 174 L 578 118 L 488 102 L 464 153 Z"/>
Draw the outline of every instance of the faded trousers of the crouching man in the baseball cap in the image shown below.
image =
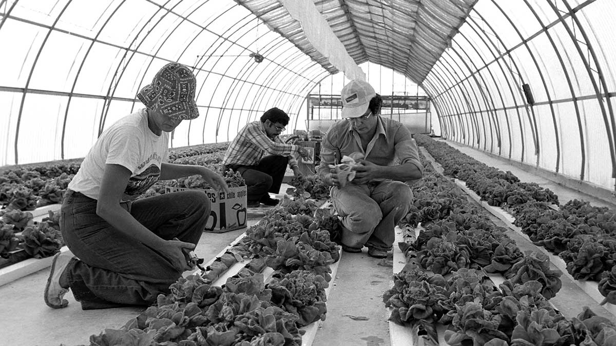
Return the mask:
<path id="1" fill-rule="evenodd" d="M 392 180 L 348 183 L 344 188 L 331 188 L 331 203 L 344 226 L 342 244 L 389 251 L 395 239 L 395 225 L 413 204 L 413 192 L 407 184 Z"/>

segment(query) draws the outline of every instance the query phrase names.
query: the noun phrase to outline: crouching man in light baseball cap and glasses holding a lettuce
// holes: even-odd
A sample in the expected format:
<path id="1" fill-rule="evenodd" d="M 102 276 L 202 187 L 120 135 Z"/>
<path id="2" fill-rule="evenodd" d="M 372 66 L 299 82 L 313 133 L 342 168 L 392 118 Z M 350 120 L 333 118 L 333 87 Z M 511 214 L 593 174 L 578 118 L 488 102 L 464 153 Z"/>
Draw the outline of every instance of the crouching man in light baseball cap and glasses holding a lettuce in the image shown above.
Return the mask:
<path id="1" fill-rule="evenodd" d="M 383 99 L 368 82 L 349 82 L 341 99 L 343 119 L 323 138 L 317 173 L 333 186 L 331 201 L 342 223 L 342 250 L 362 252 L 366 246 L 368 255 L 384 258 L 394 243 L 395 225 L 413 204 L 405 182 L 421 179 L 423 166 L 411 132 L 381 117 Z M 354 177 L 330 167 L 344 156 L 355 159 Z M 343 177 L 352 180 L 342 182 Z"/>

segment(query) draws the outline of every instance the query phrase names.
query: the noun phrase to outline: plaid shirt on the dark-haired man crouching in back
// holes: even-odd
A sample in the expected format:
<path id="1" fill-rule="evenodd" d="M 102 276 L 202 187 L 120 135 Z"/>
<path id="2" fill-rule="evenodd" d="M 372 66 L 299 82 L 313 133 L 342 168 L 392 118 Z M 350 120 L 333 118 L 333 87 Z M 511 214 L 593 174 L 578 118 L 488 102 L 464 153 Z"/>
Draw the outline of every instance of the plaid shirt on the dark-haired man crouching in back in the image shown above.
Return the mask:
<path id="1" fill-rule="evenodd" d="M 289 159 L 289 167 L 298 166 L 293 155 L 298 155 L 298 146 L 282 142 L 278 136 L 275 139 L 267 137 L 265 126 L 260 120 L 246 124 L 235 136 L 227 148 L 222 164 L 240 164 L 256 166 L 263 156 L 281 155 Z"/>

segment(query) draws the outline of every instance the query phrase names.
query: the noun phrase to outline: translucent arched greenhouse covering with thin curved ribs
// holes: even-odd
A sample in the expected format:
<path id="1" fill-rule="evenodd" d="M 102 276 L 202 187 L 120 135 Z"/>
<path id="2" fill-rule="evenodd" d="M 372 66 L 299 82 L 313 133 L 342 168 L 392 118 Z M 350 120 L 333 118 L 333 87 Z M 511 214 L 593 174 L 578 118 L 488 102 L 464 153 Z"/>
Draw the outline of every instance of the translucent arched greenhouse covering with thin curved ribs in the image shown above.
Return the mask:
<path id="1" fill-rule="evenodd" d="M 437 135 L 614 190 L 615 12 L 611 0 L 0 0 L 0 165 L 83 157 L 171 61 L 195 71 L 201 114 L 171 147 L 232 140 L 270 107 L 291 116 L 286 134 L 306 129 L 324 81 L 385 89 L 390 73 L 370 63 L 423 89 Z"/>

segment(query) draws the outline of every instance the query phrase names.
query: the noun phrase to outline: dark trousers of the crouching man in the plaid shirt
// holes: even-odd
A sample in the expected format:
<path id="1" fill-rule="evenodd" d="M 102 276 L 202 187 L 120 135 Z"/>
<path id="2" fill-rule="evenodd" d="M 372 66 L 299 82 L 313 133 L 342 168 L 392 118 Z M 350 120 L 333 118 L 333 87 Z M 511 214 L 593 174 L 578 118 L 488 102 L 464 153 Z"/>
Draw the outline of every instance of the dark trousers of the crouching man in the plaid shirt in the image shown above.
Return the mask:
<path id="1" fill-rule="evenodd" d="M 261 201 L 269 197 L 268 192 L 280 192 L 280 185 L 285 177 L 289 159 L 281 155 L 264 156 L 255 166 L 227 164 L 224 170 L 240 172 L 246 181 L 246 199 L 248 203 Z"/>

